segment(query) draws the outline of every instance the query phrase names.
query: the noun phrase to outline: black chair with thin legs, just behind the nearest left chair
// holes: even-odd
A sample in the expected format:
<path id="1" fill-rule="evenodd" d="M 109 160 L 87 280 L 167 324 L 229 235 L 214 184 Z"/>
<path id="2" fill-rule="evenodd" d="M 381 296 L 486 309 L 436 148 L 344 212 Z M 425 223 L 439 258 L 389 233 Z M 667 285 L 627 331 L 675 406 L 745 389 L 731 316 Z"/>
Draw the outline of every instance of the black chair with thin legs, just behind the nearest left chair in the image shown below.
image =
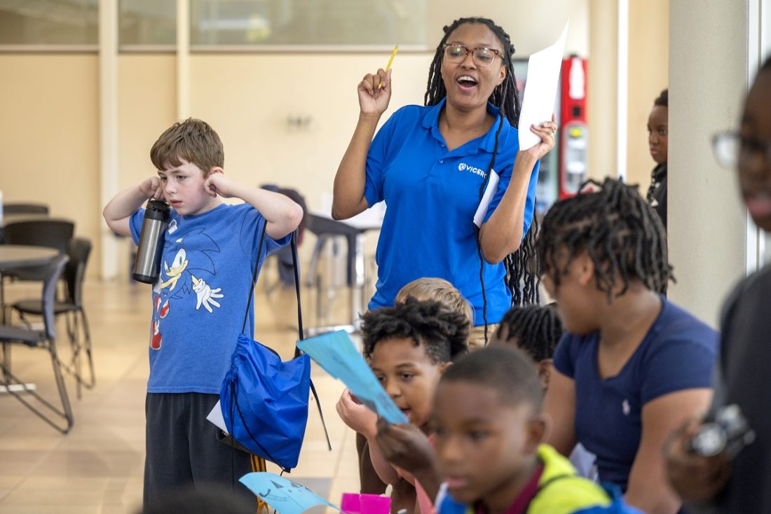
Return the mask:
<path id="1" fill-rule="evenodd" d="M 66 297 L 54 304 L 54 314 L 64 314 L 67 321 L 67 335 L 72 348 L 72 358 L 64 370 L 76 380 L 77 398 L 82 396 L 82 387 L 93 388 L 96 383 L 94 375 L 93 354 L 91 352 L 91 333 L 86 311 L 83 309 L 83 279 L 86 276 L 86 264 L 91 254 L 91 241 L 76 237 L 69 242 L 69 262 L 64 269 L 66 281 Z M 42 301 L 39 299 L 20 300 L 12 304 L 12 310 L 19 313 L 26 322 L 25 314 L 42 315 Z M 85 352 L 88 378 L 82 374 L 82 353 Z"/>

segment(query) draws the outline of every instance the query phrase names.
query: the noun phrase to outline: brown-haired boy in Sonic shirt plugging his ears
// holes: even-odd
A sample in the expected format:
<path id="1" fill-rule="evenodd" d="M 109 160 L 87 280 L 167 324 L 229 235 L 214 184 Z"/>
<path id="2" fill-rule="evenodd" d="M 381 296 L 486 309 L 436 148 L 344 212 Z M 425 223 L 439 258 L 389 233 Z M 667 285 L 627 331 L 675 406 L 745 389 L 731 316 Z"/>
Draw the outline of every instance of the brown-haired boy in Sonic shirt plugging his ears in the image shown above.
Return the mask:
<path id="1" fill-rule="evenodd" d="M 231 487 L 253 470 L 251 455 L 217 442 L 206 416 L 231 365 L 258 260 L 287 244 L 301 208 L 288 197 L 227 179 L 217 133 L 200 119 L 174 123 L 150 150 L 158 176 L 118 193 L 104 208 L 113 232 L 138 242 L 148 198 L 172 207 L 162 270 L 153 286 L 147 381 L 144 508 L 180 487 Z M 228 205 L 221 198 L 244 203 Z M 258 255 L 259 233 L 265 229 Z M 245 487 L 237 492 L 251 501 Z"/>

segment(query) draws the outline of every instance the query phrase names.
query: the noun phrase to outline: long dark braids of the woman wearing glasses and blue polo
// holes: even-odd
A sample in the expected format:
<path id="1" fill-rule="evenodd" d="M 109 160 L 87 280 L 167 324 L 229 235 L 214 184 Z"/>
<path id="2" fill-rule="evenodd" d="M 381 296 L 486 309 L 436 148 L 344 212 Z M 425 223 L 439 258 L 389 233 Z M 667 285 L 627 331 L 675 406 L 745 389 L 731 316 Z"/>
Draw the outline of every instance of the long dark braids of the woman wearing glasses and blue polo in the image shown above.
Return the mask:
<path id="1" fill-rule="evenodd" d="M 514 75 L 514 67 L 512 62 L 512 55 L 514 54 L 514 46 L 511 44 L 511 38 L 499 25 L 496 25 L 493 20 L 488 18 L 458 18 L 451 25 L 444 27 L 444 37 L 436 46 L 436 53 L 434 54 L 433 61 L 429 68 L 429 79 L 426 84 L 426 96 L 424 102 L 426 106 L 436 106 L 442 99 L 447 96 L 447 90 L 444 86 L 442 79 L 442 61 L 444 59 L 444 45 L 447 42 L 447 38 L 453 33 L 455 29 L 460 25 L 466 24 L 479 24 L 485 25 L 490 32 L 498 39 L 500 45 L 503 47 L 501 52 L 501 58 L 503 59 L 503 66 L 506 66 L 506 77 L 501 82 L 500 86 L 493 89 L 493 94 L 490 95 L 488 101 L 496 106 L 500 112 L 500 119 L 498 120 L 498 127 L 495 131 L 495 146 L 493 148 L 493 156 L 490 159 L 490 166 L 487 167 L 487 173 L 482 185 L 480 186 L 479 197 L 480 201 L 484 194 L 487 183 L 490 181 L 490 170 L 493 170 L 495 166 L 495 158 L 498 153 L 498 138 L 500 136 L 500 130 L 503 128 L 503 117 L 505 116 L 511 126 L 516 127 L 520 121 L 520 109 L 522 107 L 520 101 L 520 92 L 517 89 L 517 77 Z M 535 256 L 534 241 L 535 234 L 538 230 L 538 223 L 535 221 L 535 213 L 533 216 L 534 223 L 530 224 L 530 230 L 525 234 L 522 244 L 513 254 L 508 255 L 503 263 L 506 266 L 506 284 L 509 287 L 512 294 L 512 304 L 534 304 L 540 301 L 538 295 L 538 274 L 528 266 L 530 260 Z M 485 284 L 483 278 L 484 272 L 484 257 L 482 254 L 482 245 L 480 243 L 479 230 L 476 229 L 476 251 L 480 258 L 480 283 L 482 284 L 482 317 L 484 320 L 484 338 L 487 343 L 487 294 L 485 293 Z M 524 287 L 520 287 L 521 282 L 524 281 Z"/>

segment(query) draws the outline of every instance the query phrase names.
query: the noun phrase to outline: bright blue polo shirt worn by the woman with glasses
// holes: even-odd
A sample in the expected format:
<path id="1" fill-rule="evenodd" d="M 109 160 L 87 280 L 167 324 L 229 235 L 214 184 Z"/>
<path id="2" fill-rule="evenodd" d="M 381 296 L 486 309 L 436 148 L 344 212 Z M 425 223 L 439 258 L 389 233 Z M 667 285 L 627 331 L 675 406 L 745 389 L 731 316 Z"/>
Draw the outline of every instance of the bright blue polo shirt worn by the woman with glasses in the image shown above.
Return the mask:
<path id="1" fill-rule="evenodd" d="M 392 306 L 399 289 L 417 278 L 439 277 L 451 282 L 470 301 L 474 324 L 481 325 L 480 255 L 473 216 L 493 156 L 500 115 L 488 104 L 487 112 L 496 121 L 487 134 L 450 151 L 439 133 L 444 102 L 402 107 L 385 122 L 369 147 L 365 198 L 369 207 L 381 200 L 388 206 L 375 254 L 377 291 L 369 308 Z M 504 117 L 493 166 L 500 182 L 484 221 L 490 219 L 506 192 L 518 150 L 517 129 Z M 523 233 L 533 220 L 539 165 L 527 188 Z M 511 292 L 504 282 L 506 268 L 503 263 L 485 262 L 483 277 L 487 322 L 497 323 L 511 305 Z"/>

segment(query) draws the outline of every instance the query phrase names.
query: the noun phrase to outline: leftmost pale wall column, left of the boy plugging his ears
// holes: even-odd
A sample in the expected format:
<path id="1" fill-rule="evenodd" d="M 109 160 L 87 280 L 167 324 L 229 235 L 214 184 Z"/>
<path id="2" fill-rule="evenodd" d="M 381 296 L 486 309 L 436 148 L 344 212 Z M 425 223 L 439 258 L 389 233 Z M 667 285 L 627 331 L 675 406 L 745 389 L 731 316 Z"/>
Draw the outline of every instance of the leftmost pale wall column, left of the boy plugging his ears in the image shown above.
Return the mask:
<path id="1" fill-rule="evenodd" d="M 118 192 L 118 0 L 99 0 L 99 176 L 101 205 Z M 101 213 L 101 209 L 99 209 Z M 102 277 L 116 277 L 117 241 L 100 225 Z"/>

